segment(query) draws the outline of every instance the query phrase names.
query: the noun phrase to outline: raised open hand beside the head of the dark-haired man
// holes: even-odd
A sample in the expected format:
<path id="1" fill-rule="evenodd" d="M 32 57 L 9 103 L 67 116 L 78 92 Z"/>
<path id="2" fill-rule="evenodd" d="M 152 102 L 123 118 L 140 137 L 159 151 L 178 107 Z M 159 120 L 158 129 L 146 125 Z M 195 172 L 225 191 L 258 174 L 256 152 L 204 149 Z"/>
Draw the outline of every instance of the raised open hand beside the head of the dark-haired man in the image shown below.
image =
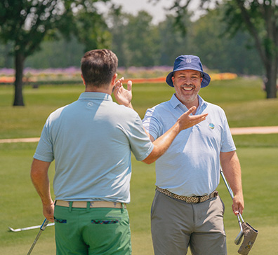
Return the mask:
<path id="1" fill-rule="evenodd" d="M 132 81 L 128 81 L 127 89 L 123 86 L 124 77 L 120 78 L 114 86 L 114 97 L 118 104 L 124 104 L 125 106 L 131 107 L 132 99 Z"/>

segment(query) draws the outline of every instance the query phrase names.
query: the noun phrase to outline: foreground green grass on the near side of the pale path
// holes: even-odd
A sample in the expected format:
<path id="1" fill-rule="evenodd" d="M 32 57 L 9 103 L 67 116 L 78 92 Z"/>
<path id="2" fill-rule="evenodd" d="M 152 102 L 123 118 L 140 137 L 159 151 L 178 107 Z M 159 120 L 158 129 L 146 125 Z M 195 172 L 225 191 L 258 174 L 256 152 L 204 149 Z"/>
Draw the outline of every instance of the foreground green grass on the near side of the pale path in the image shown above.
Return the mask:
<path id="1" fill-rule="evenodd" d="M 274 138 L 275 135 L 269 135 Z M 249 136 L 245 136 L 249 137 Z M 262 144 L 264 135 L 256 137 Z M 236 139 L 237 140 L 237 139 Z M 20 233 L 8 231 L 8 226 L 22 228 L 39 225 L 44 216 L 41 201 L 29 179 L 29 168 L 37 144 L 0 145 L 0 246 L 1 254 L 27 254 L 39 230 Z M 274 254 L 278 248 L 275 242 L 278 233 L 276 205 L 278 146 L 240 146 L 238 155 L 241 160 L 244 184 L 244 219 L 260 231 L 252 254 Z M 128 212 L 131 218 L 133 254 L 153 254 L 150 236 L 150 207 L 154 195 L 154 165 L 133 160 L 131 179 L 131 204 Z M 50 179 L 54 169 L 51 165 Z M 229 254 L 237 254 L 233 244 L 239 233 L 237 218 L 232 214 L 231 199 L 223 181 L 218 187 L 225 202 L 225 228 Z M 46 228 L 34 248 L 34 254 L 55 254 L 54 229 Z"/>

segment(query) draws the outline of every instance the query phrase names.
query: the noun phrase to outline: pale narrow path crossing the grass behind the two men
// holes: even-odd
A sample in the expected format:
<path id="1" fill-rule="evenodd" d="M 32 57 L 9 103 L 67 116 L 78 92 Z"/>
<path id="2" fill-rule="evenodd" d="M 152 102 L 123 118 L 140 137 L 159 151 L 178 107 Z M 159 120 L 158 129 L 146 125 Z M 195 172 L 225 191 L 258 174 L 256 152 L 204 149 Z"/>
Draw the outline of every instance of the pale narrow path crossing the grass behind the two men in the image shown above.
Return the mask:
<path id="1" fill-rule="evenodd" d="M 232 127 L 232 135 L 251 135 L 251 134 L 278 134 L 278 126 L 272 127 Z M 0 144 L 12 142 L 39 142 L 39 137 L 0 139 Z"/>

